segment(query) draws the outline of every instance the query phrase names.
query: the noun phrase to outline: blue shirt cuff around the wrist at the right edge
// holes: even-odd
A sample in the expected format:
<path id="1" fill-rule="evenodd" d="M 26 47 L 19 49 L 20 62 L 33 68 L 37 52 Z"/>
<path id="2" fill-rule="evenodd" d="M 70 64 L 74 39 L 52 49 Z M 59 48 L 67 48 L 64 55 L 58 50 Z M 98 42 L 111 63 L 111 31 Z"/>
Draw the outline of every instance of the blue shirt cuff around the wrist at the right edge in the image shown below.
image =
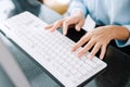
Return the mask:
<path id="1" fill-rule="evenodd" d="M 130 25 L 123 25 L 130 32 Z M 118 47 L 126 47 L 130 45 L 130 37 L 127 40 L 115 40 Z"/>

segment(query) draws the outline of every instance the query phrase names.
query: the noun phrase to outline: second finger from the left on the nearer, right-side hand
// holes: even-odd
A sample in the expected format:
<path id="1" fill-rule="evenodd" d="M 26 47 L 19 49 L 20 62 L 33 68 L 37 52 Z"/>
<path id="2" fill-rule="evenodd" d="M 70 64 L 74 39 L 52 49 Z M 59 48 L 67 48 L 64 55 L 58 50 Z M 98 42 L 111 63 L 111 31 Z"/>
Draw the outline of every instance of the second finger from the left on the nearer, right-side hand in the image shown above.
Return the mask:
<path id="1" fill-rule="evenodd" d="M 94 46 L 94 41 L 90 40 L 84 48 L 78 53 L 78 57 L 80 58 L 81 55 L 83 55 L 84 53 L 87 53 L 93 46 Z"/>

